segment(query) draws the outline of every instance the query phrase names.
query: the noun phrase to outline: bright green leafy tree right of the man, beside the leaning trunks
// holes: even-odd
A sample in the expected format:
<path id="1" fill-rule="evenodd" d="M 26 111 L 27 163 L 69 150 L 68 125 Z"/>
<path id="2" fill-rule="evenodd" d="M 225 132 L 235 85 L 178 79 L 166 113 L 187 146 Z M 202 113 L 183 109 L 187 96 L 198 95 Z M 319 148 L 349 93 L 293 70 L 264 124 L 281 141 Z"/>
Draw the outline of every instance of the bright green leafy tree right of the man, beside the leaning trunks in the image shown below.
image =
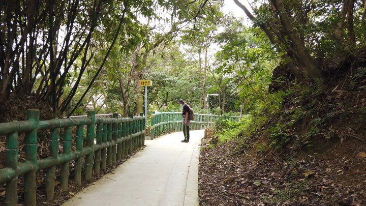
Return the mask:
<path id="1" fill-rule="evenodd" d="M 278 64 L 278 55 L 258 28 L 242 28 L 240 21 L 233 20 L 233 17 L 229 17 L 225 24 L 228 27 L 217 36 L 222 50 L 217 52 L 213 67 L 219 77 L 229 80 L 218 89 L 226 90 L 231 85 L 232 94 L 238 95 L 240 102 L 250 108 L 264 102 L 269 95 L 268 84 L 271 72 Z M 220 85 L 218 79 L 215 81 Z"/>

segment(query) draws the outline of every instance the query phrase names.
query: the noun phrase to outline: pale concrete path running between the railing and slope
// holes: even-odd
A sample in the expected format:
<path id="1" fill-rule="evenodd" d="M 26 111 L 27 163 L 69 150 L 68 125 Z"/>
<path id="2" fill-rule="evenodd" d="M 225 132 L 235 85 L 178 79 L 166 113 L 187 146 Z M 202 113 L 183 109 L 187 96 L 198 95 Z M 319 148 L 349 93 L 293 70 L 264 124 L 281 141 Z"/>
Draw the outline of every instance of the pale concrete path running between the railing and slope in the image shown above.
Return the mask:
<path id="1" fill-rule="evenodd" d="M 204 130 L 145 140 L 146 147 L 63 206 L 197 206 L 199 144 Z"/>

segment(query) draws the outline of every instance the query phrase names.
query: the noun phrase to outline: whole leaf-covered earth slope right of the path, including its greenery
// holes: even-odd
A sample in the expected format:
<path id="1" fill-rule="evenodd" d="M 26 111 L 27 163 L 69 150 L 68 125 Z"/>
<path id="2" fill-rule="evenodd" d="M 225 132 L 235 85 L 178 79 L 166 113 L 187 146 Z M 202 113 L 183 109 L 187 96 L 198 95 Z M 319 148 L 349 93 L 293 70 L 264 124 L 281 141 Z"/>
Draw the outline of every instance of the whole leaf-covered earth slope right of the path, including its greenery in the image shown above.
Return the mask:
<path id="1" fill-rule="evenodd" d="M 233 140 L 203 139 L 200 205 L 365 205 L 365 71 L 326 92 L 293 88 Z"/>

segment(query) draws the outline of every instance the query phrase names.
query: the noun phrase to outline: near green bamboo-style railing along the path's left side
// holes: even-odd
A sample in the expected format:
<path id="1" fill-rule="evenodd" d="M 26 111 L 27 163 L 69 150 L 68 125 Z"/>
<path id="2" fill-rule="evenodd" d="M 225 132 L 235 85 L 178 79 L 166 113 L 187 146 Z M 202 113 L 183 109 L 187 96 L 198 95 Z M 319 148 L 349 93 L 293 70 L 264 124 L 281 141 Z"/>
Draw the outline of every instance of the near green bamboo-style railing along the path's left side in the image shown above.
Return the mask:
<path id="1" fill-rule="evenodd" d="M 82 170 L 84 179 L 90 180 L 93 172 L 99 175 L 107 166 L 141 148 L 145 140 L 145 119 L 142 115 L 121 118 L 115 113 L 111 118 L 101 118 L 90 111 L 86 117 L 40 121 L 39 110 L 28 110 L 26 121 L 1 123 L 0 135 L 6 136 L 6 168 L 0 169 L 0 184 L 6 183 L 5 205 L 17 205 L 20 175 L 24 178 L 24 205 L 36 206 L 37 170 L 47 170 L 46 194 L 48 200 L 53 200 L 56 178 L 59 178 L 63 191 L 68 191 L 71 161 L 74 161 L 74 182 L 81 185 Z M 87 128 L 86 136 L 84 127 Z M 62 154 L 59 154 L 60 129 L 64 129 Z M 40 130 L 50 130 L 49 157 L 45 159 L 39 159 L 37 155 L 37 132 Z M 25 161 L 19 162 L 18 135 L 23 132 Z M 75 151 L 72 151 L 73 133 Z M 57 165 L 61 166 L 59 177 L 55 175 Z"/>

